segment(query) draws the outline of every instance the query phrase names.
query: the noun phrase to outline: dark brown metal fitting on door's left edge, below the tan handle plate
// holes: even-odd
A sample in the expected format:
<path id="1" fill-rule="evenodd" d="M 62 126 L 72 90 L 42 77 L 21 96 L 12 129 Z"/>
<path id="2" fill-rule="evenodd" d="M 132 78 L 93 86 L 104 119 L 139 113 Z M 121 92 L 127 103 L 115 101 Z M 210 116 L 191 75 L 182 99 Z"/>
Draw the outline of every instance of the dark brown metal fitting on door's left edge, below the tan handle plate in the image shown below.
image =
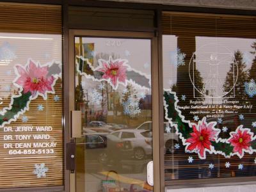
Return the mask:
<path id="1" fill-rule="evenodd" d="M 74 173 L 76 170 L 76 143 L 74 140 L 71 140 L 70 143 L 67 143 L 67 170 L 70 170 L 70 173 Z"/>

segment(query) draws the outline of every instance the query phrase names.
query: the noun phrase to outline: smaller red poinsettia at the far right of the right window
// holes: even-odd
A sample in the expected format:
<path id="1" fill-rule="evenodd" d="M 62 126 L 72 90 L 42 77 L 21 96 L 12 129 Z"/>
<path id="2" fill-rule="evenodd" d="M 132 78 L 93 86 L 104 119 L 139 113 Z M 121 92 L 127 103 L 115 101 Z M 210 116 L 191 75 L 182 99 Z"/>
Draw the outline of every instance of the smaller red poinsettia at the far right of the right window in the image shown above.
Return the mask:
<path id="1" fill-rule="evenodd" d="M 253 133 L 249 129 L 243 129 L 243 125 L 240 125 L 236 132 L 230 132 L 230 136 L 227 141 L 234 147 L 233 152 L 239 157 L 244 156 L 244 151 L 250 151 Z"/>

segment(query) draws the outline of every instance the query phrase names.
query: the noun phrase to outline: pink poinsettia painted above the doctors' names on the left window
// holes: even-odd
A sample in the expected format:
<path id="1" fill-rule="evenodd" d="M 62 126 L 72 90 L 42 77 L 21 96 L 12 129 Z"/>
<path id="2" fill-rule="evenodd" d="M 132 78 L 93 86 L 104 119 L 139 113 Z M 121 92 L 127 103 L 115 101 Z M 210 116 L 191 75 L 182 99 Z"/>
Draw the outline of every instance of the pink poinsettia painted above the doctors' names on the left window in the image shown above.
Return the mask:
<path id="1" fill-rule="evenodd" d="M 31 92 L 32 97 L 39 93 L 44 97 L 46 92 L 53 91 L 54 77 L 48 76 L 48 67 L 36 66 L 33 61 L 29 61 L 29 65 L 26 68 L 19 65 L 16 68 L 20 77 L 15 83 L 22 86 L 24 93 Z"/>

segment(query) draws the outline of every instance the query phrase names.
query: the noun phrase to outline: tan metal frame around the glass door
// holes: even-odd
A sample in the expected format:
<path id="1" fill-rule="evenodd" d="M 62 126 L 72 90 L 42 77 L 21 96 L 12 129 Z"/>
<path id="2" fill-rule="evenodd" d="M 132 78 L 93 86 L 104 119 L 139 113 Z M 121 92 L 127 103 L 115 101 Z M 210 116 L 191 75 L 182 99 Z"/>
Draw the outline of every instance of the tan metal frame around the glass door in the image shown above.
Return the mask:
<path id="1" fill-rule="evenodd" d="M 74 40 L 75 36 L 106 37 L 106 38 L 147 38 L 151 40 L 151 84 L 152 84 L 152 135 L 153 135 L 153 161 L 154 161 L 154 191 L 161 191 L 161 168 L 160 168 L 160 129 L 159 122 L 159 61 L 158 61 L 158 43 L 155 33 L 150 32 L 131 32 L 131 31 L 101 31 L 86 29 L 68 30 L 68 132 L 71 130 L 71 113 L 75 109 L 75 65 L 74 65 Z M 68 140 L 71 139 L 69 134 Z M 76 191 L 76 172 L 69 173 L 70 192 Z"/>

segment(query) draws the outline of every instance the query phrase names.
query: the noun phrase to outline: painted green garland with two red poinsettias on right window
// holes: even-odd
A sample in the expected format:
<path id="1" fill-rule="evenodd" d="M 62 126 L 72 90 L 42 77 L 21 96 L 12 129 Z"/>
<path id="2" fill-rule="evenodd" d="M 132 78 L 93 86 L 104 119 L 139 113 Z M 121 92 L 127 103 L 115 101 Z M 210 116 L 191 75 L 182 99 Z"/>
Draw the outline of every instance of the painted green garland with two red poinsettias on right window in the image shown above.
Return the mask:
<path id="1" fill-rule="evenodd" d="M 206 117 L 198 121 L 198 124 L 185 120 L 185 116 L 177 108 L 179 102 L 175 92 L 164 90 L 164 112 L 165 119 L 171 126 L 175 127 L 175 133 L 179 135 L 185 151 L 197 153 L 200 159 L 209 154 L 221 154 L 226 158 L 237 155 L 240 159 L 245 153 L 256 152 L 256 136 L 248 128 L 239 125 L 236 131 L 230 132 L 227 139 L 220 138 L 220 129 L 216 128 L 217 122 L 206 122 Z"/>

